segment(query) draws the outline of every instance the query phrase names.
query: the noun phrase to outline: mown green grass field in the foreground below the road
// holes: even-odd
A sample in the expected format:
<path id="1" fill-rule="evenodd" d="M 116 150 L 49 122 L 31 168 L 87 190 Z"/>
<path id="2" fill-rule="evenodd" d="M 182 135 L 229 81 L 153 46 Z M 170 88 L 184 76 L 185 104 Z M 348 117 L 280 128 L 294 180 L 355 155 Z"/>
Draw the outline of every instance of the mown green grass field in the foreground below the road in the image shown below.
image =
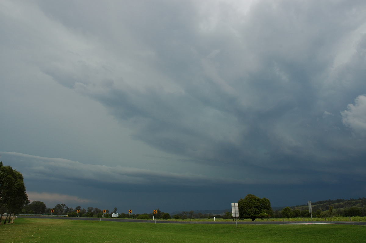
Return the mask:
<path id="1" fill-rule="evenodd" d="M 366 242 L 360 225 L 153 224 L 61 219 L 0 225 L 0 242 Z"/>

